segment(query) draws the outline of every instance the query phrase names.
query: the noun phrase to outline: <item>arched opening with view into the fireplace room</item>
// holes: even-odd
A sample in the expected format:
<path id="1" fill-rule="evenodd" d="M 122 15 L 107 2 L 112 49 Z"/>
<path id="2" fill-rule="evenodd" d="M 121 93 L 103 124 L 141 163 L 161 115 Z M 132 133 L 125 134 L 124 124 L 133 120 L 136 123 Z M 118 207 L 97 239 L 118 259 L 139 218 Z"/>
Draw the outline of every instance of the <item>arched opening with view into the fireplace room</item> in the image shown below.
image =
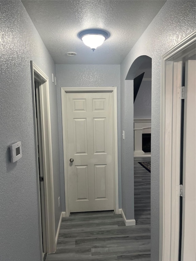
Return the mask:
<path id="1" fill-rule="evenodd" d="M 152 59 L 145 57 L 134 77 L 134 216 L 150 225 Z"/>

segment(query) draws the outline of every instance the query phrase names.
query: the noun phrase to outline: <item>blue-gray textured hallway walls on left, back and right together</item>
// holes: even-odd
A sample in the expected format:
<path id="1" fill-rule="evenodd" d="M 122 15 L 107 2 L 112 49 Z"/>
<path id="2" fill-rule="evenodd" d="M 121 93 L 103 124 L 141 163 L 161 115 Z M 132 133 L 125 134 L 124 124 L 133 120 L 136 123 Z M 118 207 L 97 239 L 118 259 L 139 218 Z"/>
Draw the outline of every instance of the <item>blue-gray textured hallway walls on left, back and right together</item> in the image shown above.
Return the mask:
<path id="1" fill-rule="evenodd" d="M 119 160 L 122 158 L 122 162 L 119 161 L 119 196 L 122 179 L 123 211 L 126 218 L 134 217 L 132 80 L 139 65 L 135 66 L 132 72 L 129 72 L 129 69 L 136 58 L 147 55 L 152 58 L 151 260 L 157 261 L 161 55 L 195 30 L 195 1 L 167 1 L 121 66 L 57 65 L 57 93 L 55 85 L 51 82 L 51 74 L 55 74 L 54 62 L 21 2 L 0 1 L 0 10 L 1 260 L 40 260 L 30 60 L 49 76 L 57 229 L 61 211 L 58 208 L 60 178 L 62 210 L 65 205 L 60 87 L 117 86 L 119 151 L 121 149 Z M 124 141 L 120 139 L 122 130 L 125 130 Z M 19 140 L 22 143 L 23 156 L 17 163 L 11 164 L 8 159 L 8 146 Z M 120 201 L 121 199 L 119 207 Z"/>

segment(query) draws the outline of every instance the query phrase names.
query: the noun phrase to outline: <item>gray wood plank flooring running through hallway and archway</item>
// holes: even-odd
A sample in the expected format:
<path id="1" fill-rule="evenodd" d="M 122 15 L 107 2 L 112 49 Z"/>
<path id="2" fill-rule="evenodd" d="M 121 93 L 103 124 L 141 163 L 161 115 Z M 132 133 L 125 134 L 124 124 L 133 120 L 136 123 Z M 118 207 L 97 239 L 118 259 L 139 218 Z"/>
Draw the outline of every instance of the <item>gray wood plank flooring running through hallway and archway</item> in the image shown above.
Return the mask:
<path id="1" fill-rule="evenodd" d="M 134 159 L 136 226 L 113 211 L 71 213 L 63 218 L 57 250 L 47 261 L 150 261 L 150 173 Z M 142 158 L 150 161 L 150 158 Z"/>

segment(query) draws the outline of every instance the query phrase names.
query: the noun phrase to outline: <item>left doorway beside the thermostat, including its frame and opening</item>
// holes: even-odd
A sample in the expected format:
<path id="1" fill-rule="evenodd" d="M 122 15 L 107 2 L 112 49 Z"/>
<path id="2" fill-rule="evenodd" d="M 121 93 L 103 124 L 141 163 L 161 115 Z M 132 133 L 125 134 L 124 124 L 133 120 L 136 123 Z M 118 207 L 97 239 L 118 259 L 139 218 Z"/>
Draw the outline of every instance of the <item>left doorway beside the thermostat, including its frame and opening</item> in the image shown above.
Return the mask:
<path id="1" fill-rule="evenodd" d="M 31 61 L 40 260 L 55 252 L 55 213 L 48 77 Z"/>

